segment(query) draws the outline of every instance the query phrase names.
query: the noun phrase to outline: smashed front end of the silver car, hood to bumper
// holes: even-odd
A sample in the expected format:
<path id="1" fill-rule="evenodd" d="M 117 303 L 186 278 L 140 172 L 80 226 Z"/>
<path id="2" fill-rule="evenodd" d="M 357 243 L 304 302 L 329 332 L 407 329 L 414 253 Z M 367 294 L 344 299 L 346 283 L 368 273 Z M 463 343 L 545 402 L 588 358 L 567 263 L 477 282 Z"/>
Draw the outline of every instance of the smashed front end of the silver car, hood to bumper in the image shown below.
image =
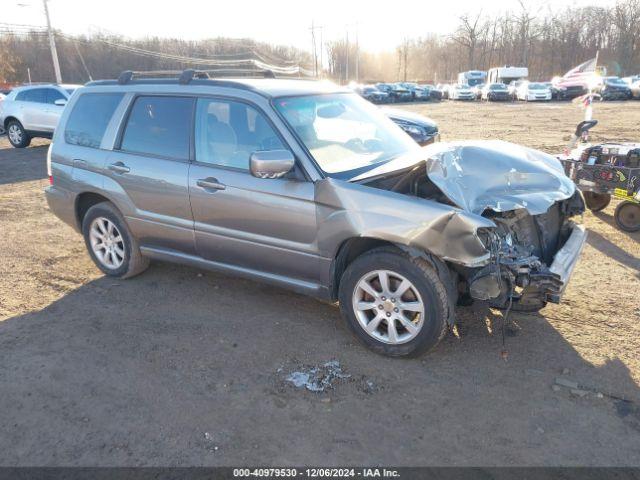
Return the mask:
<path id="1" fill-rule="evenodd" d="M 586 231 L 572 220 L 582 196 L 555 158 L 506 142 L 449 144 L 430 152 L 427 173 L 456 205 L 495 224 L 478 231 L 488 264 L 457 267 L 464 294 L 500 308 L 560 301 Z"/>

